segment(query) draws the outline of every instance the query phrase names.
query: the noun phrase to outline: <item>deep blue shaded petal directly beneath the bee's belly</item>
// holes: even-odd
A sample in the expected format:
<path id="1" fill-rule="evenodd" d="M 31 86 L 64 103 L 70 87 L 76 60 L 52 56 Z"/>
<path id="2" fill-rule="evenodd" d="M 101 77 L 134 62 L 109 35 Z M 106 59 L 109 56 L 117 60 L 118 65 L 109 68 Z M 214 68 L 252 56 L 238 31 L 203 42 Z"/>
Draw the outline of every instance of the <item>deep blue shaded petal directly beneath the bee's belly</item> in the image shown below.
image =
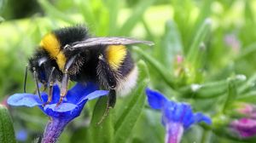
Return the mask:
<path id="1" fill-rule="evenodd" d="M 77 83 L 72 89 L 67 92 L 67 100 L 68 102 L 77 104 L 81 102 L 81 99 L 84 99 L 87 94 L 94 92 L 99 89 L 96 83 Z"/>

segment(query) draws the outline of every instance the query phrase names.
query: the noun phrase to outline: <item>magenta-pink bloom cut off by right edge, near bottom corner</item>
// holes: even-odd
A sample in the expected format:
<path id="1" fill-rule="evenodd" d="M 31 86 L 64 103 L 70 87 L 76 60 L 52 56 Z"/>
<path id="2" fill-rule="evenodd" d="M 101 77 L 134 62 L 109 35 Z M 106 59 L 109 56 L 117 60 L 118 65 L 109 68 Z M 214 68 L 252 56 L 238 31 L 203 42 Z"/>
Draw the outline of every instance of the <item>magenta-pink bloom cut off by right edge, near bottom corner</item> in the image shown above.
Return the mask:
<path id="1" fill-rule="evenodd" d="M 252 137 L 256 134 L 256 120 L 241 118 L 231 123 L 231 128 L 240 134 L 242 138 Z"/>

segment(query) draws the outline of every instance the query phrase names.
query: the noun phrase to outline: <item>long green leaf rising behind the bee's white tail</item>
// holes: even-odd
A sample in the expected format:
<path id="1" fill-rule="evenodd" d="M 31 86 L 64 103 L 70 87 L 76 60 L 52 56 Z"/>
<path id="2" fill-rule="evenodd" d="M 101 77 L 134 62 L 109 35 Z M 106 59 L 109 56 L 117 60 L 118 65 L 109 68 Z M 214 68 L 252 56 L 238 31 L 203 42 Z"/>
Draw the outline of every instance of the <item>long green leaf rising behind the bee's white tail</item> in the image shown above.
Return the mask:
<path id="1" fill-rule="evenodd" d="M 142 60 L 138 62 L 138 66 L 140 70 L 138 81 L 140 82 L 137 85 L 137 89 L 130 94 L 131 100 L 122 105 L 125 110 L 114 125 L 115 134 L 113 142 L 115 143 L 123 143 L 130 137 L 133 127 L 143 112 L 146 99 L 144 92 L 148 84 L 148 68 Z"/>

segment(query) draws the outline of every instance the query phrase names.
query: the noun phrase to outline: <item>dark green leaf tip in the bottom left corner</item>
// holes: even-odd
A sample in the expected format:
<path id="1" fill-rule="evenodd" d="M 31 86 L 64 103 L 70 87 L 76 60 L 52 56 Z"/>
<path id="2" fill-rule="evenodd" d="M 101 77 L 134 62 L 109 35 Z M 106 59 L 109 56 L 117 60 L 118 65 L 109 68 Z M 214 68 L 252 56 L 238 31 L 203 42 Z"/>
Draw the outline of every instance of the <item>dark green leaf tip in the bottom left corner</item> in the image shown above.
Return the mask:
<path id="1" fill-rule="evenodd" d="M 7 108 L 2 105 L 0 105 L 0 142 L 16 142 L 11 117 Z"/>

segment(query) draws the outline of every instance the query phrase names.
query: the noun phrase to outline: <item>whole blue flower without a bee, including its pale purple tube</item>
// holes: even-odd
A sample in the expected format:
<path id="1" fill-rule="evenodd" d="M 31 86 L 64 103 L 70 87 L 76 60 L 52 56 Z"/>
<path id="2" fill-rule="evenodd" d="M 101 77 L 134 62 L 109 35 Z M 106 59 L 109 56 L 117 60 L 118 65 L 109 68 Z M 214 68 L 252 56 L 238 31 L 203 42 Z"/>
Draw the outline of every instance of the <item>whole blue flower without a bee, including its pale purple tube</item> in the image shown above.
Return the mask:
<path id="1" fill-rule="evenodd" d="M 167 100 L 163 94 L 151 89 L 146 89 L 146 94 L 149 106 L 162 112 L 162 123 L 166 127 L 166 143 L 179 142 L 183 130 L 189 129 L 195 123 L 212 123 L 211 119 L 201 112 L 193 113 L 189 104 Z"/>

